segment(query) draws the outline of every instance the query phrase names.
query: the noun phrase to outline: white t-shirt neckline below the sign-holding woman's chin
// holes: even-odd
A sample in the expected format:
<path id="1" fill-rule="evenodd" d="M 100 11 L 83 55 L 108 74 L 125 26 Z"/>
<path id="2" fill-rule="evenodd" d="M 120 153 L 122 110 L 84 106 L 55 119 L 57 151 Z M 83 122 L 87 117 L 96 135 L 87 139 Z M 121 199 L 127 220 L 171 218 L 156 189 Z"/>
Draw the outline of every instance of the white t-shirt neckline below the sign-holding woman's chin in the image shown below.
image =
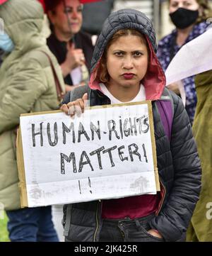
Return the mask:
<path id="1" fill-rule="evenodd" d="M 119 101 L 117 98 L 115 98 L 110 93 L 110 91 L 108 91 L 107 87 L 105 87 L 105 84 L 100 83 L 100 88 L 101 88 L 103 94 L 105 94 L 110 99 L 111 104 L 126 103 L 126 102 Z M 135 96 L 134 99 L 132 99 L 131 101 L 128 101 L 127 103 L 129 103 L 129 102 L 137 102 L 137 101 L 145 101 L 145 100 L 146 100 L 146 92 L 145 92 L 145 89 L 143 87 L 143 84 L 141 84 L 139 93 Z"/>

